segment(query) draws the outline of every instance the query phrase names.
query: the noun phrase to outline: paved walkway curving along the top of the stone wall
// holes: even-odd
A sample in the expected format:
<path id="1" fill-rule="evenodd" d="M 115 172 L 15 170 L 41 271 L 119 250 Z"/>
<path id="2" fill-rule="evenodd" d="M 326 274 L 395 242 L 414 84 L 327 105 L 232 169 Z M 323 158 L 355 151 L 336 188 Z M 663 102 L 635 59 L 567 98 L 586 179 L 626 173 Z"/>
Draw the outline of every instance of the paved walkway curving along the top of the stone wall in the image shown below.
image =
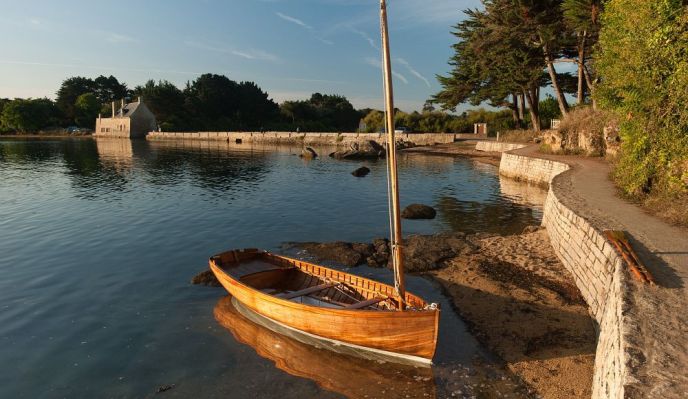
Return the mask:
<path id="1" fill-rule="evenodd" d="M 512 153 L 571 165 L 572 172 L 557 182 L 564 192 L 560 199 L 596 227 L 624 230 L 630 236 L 657 281 L 656 286 L 631 287 L 633 309 L 628 314 L 638 328 L 625 333 L 642 340 L 645 362 L 630 367 L 650 389 L 648 397 L 688 397 L 688 230 L 621 199 L 603 160 L 541 154 L 536 146 Z"/>

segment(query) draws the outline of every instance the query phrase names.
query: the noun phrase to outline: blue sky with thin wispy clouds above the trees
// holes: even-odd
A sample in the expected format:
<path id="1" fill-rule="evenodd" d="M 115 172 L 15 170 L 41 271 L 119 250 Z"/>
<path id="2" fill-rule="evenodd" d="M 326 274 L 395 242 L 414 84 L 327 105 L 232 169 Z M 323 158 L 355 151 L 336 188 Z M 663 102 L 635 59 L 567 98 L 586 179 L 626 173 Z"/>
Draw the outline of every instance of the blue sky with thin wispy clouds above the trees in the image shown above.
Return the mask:
<path id="1" fill-rule="evenodd" d="M 420 110 L 440 90 L 452 26 L 479 6 L 388 0 L 397 107 Z M 320 92 L 382 108 L 378 0 L 0 0 L 0 9 L 0 98 L 54 98 L 71 76 L 183 88 L 216 73 L 277 102 Z"/>

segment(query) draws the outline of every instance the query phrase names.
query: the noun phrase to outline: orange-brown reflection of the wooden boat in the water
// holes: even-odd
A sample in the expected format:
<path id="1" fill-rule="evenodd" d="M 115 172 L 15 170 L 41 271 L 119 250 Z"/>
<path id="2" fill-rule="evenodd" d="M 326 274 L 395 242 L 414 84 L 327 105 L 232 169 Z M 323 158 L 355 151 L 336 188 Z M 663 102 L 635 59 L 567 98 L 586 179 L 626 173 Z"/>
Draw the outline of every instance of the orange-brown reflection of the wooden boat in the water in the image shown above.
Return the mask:
<path id="1" fill-rule="evenodd" d="M 304 343 L 308 337 L 273 331 L 279 326 L 231 296 L 217 303 L 214 314 L 237 341 L 251 346 L 280 370 L 313 380 L 324 389 L 350 398 L 436 397 L 431 368 L 364 359 L 355 353 L 341 353 L 350 350 L 347 347 L 324 348 L 320 341 Z"/>

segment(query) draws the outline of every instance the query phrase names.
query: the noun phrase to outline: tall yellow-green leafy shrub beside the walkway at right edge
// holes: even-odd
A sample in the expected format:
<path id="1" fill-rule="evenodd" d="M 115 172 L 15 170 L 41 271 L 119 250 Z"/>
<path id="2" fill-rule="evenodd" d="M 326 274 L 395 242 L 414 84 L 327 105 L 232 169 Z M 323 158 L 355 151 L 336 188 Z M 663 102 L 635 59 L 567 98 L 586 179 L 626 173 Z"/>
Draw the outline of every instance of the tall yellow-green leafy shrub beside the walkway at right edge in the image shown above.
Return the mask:
<path id="1" fill-rule="evenodd" d="M 595 95 L 621 120 L 616 181 L 635 198 L 685 205 L 688 6 L 681 0 L 609 0 L 599 47 Z"/>

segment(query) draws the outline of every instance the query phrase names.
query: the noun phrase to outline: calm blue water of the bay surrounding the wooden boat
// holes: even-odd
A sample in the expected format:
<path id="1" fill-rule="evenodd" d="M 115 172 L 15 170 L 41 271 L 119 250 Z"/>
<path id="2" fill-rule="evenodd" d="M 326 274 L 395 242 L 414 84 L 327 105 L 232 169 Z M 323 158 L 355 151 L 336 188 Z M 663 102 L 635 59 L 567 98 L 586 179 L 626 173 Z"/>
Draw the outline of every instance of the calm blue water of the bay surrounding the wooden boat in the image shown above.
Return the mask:
<path id="1" fill-rule="evenodd" d="M 231 321 L 241 319 L 222 289 L 188 284 L 228 248 L 387 235 L 383 162 L 307 162 L 298 151 L 0 141 L 0 397 L 414 397 L 403 387 L 418 384 L 425 397 L 480 384 L 513 396 L 510 377 L 423 278 L 410 277 L 409 289 L 445 309 L 429 371 L 346 358 L 332 369 L 329 354 Z M 351 176 L 361 164 L 371 174 Z M 542 192 L 500 183 L 495 167 L 415 154 L 399 167 L 402 204 L 438 210 L 433 221 L 406 221 L 405 233 L 510 233 L 539 223 Z M 330 364 L 328 380 L 304 364 Z M 368 378 L 351 377 L 363 371 Z M 392 389 L 371 391 L 371 381 Z M 162 385 L 174 388 L 156 394 Z"/>

